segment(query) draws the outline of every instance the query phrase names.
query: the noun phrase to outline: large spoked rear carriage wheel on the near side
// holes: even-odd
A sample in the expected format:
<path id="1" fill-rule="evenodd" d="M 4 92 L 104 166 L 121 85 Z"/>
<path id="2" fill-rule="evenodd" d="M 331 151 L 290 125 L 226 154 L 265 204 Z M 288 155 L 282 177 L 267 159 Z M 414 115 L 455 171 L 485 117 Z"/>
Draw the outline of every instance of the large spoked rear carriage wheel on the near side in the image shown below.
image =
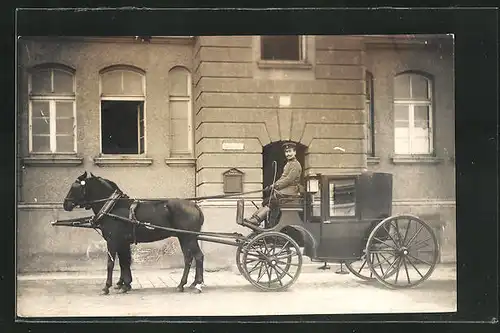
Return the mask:
<path id="1" fill-rule="evenodd" d="M 366 245 L 366 260 L 374 277 L 389 288 L 411 288 L 431 276 L 439 245 L 432 229 L 412 215 L 380 222 Z"/>

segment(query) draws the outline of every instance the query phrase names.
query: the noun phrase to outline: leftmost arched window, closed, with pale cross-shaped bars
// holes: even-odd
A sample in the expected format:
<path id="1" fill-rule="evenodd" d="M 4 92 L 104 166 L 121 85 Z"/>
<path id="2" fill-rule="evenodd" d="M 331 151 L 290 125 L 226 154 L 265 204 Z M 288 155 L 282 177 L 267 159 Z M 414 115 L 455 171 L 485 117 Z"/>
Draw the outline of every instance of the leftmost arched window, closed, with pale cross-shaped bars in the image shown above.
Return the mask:
<path id="1" fill-rule="evenodd" d="M 76 153 L 74 70 L 35 68 L 29 75 L 29 152 Z"/>

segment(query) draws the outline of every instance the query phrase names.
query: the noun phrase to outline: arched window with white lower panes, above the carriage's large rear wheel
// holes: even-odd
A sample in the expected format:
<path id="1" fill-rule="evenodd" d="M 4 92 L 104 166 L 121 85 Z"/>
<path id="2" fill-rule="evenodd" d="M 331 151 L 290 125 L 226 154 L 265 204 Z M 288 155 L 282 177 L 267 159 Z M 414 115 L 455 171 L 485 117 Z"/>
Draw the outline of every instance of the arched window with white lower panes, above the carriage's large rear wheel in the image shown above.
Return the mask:
<path id="1" fill-rule="evenodd" d="M 430 155 L 432 142 L 432 82 L 421 74 L 405 73 L 394 80 L 394 152 Z"/>

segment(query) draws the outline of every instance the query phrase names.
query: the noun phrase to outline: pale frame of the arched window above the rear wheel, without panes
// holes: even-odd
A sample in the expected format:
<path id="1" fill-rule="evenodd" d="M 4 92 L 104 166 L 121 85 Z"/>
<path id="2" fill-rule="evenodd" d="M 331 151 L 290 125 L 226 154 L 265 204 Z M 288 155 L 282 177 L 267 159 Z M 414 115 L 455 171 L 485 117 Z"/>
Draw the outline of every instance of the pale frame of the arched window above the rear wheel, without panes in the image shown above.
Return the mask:
<path id="1" fill-rule="evenodd" d="M 403 72 L 399 73 L 394 76 L 394 82 L 397 77 L 399 76 L 410 76 L 409 80 L 409 92 L 410 92 L 410 97 L 409 98 L 397 98 L 394 93 L 393 89 L 393 135 L 394 135 L 394 140 L 393 140 L 393 147 L 394 147 L 394 154 L 397 156 L 405 156 L 405 155 L 411 155 L 411 156 L 434 156 L 435 154 L 435 145 L 434 145 L 434 80 L 433 78 L 427 74 L 427 73 L 420 73 L 420 72 L 414 72 L 414 71 L 408 71 L 408 72 Z M 427 81 L 427 94 L 428 98 L 427 99 L 422 99 L 422 98 L 414 98 L 411 96 L 412 92 L 412 77 L 420 77 L 423 78 Z M 407 106 L 407 112 L 408 112 L 408 152 L 407 153 L 402 153 L 396 151 L 396 143 L 397 143 L 397 138 L 396 138 L 396 106 Z M 414 150 L 412 149 L 412 142 L 415 140 L 415 134 L 414 134 L 414 129 L 415 129 L 415 106 L 427 106 L 429 108 L 429 128 L 428 128 L 428 134 L 427 134 L 427 139 L 428 139 L 428 152 L 425 153 L 415 153 Z"/>

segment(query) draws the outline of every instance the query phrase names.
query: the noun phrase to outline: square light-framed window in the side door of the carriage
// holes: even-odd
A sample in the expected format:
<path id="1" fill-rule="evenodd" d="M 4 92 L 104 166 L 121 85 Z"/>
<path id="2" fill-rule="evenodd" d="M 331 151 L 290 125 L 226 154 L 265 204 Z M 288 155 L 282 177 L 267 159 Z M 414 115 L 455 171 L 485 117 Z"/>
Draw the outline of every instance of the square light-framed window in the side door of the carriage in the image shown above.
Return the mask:
<path id="1" fill-rule="evenodd" d="M 356 188 L 355 181 L 331 180 L 329 183 L 330 216 L 356 215 Z"/>

